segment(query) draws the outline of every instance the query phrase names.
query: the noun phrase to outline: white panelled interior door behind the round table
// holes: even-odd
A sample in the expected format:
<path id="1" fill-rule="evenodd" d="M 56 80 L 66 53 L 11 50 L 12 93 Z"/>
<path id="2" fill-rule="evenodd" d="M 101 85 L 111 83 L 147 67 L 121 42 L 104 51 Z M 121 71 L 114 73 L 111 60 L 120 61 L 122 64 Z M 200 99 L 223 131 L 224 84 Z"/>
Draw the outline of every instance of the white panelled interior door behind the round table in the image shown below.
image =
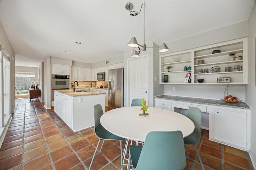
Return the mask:
<path id="1" fill-rule="evenodd" d="M 128 59 L 128 69 L 129 106 L 135 98 L 148 102 L 148 55 Z"/>

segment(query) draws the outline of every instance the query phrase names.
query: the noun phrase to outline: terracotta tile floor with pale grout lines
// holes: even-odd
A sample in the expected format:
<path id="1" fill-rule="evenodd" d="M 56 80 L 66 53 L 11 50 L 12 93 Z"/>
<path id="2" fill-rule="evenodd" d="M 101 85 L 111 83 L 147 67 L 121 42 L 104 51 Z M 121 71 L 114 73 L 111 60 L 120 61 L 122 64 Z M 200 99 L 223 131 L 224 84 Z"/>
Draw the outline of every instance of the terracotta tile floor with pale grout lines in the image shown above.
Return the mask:
<path id="1" fill-rule="evenodd" d="M 1 170 L 88 169 L 98 143 L 93 127 L 73 132 L 53 109 L 46 110 L 37 100 L 16 99 L 16 106 L 0 149 Z M 209 141 L 208 137 L 209 132 L 202 129 L 197 145 L 206 170 L 252 170 L 247 152 Z M 106 141 L 92 169 L 120 169 L 119 146 L 118 141 Z M 194 148 L 187 149 L 190 158 L 185 169 L 202 169 Z"/>

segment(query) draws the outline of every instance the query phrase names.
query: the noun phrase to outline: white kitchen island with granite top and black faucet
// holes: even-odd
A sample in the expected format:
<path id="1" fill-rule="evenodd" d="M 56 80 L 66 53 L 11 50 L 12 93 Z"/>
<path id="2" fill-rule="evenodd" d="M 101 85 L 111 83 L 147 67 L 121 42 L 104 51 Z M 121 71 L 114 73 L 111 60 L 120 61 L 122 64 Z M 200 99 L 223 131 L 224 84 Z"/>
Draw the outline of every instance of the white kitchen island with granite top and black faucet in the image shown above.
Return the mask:
<path id="1" fill-rule="evenodd" d="M 89 90 L 54 90 L 54 111 L 74 131 L 94 126 L 94 105 L 105 113 L 105 93 Z"/>

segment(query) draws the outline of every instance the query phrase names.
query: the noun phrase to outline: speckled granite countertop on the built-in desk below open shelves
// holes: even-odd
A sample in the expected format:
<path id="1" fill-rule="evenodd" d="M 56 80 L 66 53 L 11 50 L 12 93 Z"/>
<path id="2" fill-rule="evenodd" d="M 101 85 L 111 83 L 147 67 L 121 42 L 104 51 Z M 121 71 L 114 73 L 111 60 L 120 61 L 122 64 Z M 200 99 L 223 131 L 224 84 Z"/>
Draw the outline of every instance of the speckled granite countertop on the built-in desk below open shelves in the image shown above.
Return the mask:
<path id="1" fill-rule="evenodd" d="M 188 98 L 188 97 L 168 96 L 168 95 L 155 96 L 155 98 L 166 99 L 166 100 L 175 100 L 175 101 L 180 101 L 180 102 L 196 103 L 196 104 L 206 104 L 206 105 L 213 105 L 213 106 L 250 109 L 250 107 L 247 104 L 245 104 L 244 102 L 229 103 L 229 102 L 224 102 L 223 100 L 210 100 L 210 99 Z"/>

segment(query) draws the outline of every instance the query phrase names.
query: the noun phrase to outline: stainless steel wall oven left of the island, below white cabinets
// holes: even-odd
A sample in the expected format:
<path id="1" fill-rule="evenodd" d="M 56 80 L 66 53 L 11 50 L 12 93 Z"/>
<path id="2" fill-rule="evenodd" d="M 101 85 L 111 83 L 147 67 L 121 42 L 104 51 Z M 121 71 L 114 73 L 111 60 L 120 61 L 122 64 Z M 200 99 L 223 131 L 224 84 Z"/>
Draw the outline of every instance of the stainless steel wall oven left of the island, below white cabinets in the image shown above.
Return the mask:
<path id="1" fill-rule="evenodd" d="M 69 89 L 69 75 L 52 74 L 52 101 L 54 101 L 54 90 Z"/>

